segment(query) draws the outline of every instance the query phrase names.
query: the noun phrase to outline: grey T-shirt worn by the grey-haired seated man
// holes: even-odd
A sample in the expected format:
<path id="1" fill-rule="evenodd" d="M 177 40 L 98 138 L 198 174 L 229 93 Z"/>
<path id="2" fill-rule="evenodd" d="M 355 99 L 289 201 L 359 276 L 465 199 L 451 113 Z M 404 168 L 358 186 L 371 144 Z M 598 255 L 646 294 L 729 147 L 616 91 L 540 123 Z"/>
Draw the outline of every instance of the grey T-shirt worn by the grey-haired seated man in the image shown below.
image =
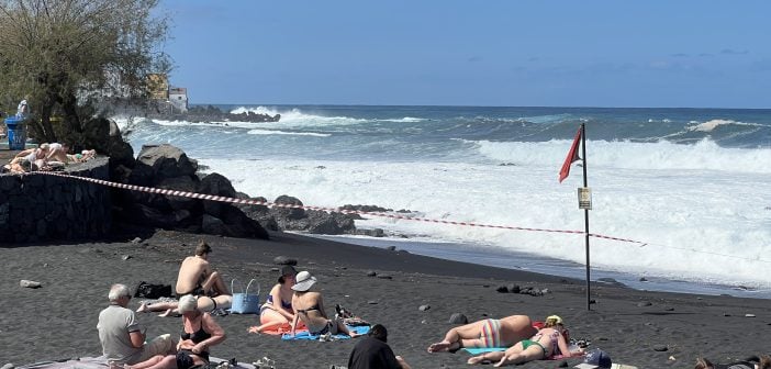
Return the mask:
<path id="1" fill-rule="evenodd" d="M 99 313 L 97 329 L 108 362 L 135 364 L 135 360 L 142 357 L 143 348 L 134 347 L 128 336 L 128 333 L 142 329 L 134 311 L 110 305 Z"/>

